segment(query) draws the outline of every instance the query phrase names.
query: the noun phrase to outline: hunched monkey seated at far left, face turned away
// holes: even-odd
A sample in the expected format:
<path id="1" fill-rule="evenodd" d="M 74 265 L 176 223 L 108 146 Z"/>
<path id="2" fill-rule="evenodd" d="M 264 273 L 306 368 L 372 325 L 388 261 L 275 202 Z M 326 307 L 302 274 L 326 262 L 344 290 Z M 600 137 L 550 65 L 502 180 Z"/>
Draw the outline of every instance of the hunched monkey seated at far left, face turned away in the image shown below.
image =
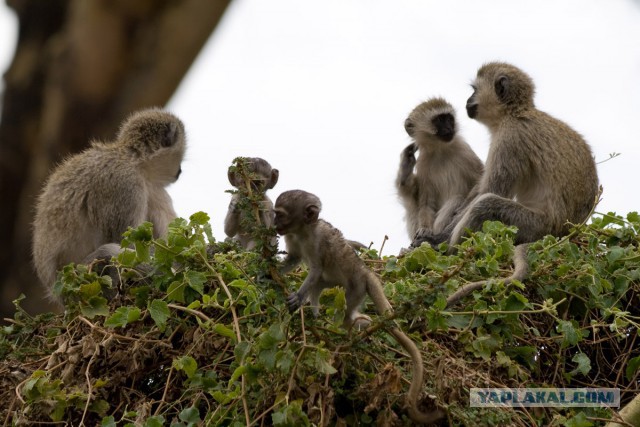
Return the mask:
<path id="1" fill-rule="evenodd" d="M 126 119 L 115 141 L 94 141 L 56 167 L 33 228 L 36 272 L 50 294 L 64 265 L 117 255 L 128 227 L 150 221 L 154 237 L 166 234 L 176 213 L 165 187 L 180 176 L 185 149 L 180 119 L 151 108 Z"/>

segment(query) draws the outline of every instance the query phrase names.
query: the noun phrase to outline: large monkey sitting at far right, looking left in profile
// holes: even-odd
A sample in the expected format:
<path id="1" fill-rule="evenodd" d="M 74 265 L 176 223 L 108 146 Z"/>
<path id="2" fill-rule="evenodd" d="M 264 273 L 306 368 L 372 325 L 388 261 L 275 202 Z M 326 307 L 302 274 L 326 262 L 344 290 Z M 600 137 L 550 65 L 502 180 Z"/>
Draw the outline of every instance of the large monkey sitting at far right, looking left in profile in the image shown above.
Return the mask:
<path id="1" fill-rule="evenodd" d="M 535 107 L 533 80 L 513 65 L 483 65 L 472 87 L 467 114 L 491 133 L 478 194 L 454 225 L 421 240 L 455 245 L 466 229 L 493 220 L 517 226 L 516 244 L 522 244 L 565 235 L 569 223 L 586 220 L 598 175 L 582 136 Z"/>

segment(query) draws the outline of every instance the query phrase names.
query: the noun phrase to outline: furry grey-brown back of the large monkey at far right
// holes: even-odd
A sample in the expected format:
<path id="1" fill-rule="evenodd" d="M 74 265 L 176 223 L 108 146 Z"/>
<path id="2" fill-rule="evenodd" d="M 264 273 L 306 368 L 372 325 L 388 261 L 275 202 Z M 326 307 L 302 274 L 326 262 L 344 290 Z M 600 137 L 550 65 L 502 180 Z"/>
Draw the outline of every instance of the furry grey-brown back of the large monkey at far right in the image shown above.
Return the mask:
<path id="1" fill-rule="evenodd" d="M 548 215 L 553 234 L 563 234 L 566 221 L 589 215 L 598 192 L 596 165 L 589 145 L 569 125 L 539 110 L 505 119 L 487 163 L 505 159 L 516 177 L 516 200 Z"/>

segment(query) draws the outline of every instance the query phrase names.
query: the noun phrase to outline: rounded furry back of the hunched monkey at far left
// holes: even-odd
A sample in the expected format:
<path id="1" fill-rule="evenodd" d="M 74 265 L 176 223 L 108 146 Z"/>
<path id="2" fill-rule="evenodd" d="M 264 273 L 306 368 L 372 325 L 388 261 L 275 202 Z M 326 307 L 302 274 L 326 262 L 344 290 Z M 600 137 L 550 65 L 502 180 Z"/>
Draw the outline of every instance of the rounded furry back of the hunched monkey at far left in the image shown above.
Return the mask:
<path id="1" fill-rule="evenodd" d="M 119 242 L 127 226 L 144 217 L 133 208 L 146 197 L 144 181 L 115 148 L 94 146 L 69 157 L 47 180 L 33 224 L 34 263 L 43 283 L 53 283 L 57 269 L 100 245 Z"/>

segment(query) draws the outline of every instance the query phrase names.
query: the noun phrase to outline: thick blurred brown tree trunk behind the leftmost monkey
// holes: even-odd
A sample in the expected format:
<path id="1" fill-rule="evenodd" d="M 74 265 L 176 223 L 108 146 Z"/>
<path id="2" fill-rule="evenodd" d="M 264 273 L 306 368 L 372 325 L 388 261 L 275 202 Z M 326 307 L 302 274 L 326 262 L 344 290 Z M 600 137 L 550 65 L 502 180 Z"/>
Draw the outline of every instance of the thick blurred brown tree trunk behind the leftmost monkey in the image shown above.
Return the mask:
<path id="1" fill-rule="evenodd" d="M 50 169 L 131 111 L 163 106 L 229 0 L 8 0 L 18 47 L 0 122 L 0 313 L 51 309 L 31 264 L 33 206 Z"/>

